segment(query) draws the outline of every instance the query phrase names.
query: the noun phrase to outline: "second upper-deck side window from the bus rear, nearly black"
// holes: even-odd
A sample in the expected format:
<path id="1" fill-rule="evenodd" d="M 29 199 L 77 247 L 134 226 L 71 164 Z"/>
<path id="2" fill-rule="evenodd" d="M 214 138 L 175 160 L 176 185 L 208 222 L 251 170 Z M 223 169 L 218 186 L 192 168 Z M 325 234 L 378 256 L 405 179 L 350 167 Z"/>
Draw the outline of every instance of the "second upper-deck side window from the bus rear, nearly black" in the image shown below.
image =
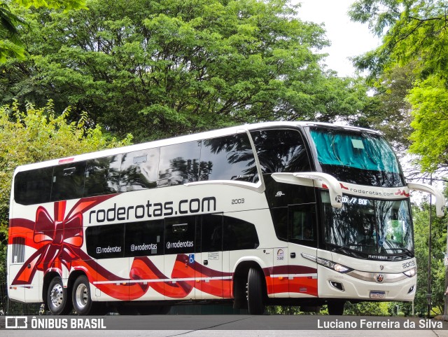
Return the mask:
<path id="1" fill-rule="evenodd" d="M 51 201 L 83 198 L 85 161 L 55 166 Z"/>

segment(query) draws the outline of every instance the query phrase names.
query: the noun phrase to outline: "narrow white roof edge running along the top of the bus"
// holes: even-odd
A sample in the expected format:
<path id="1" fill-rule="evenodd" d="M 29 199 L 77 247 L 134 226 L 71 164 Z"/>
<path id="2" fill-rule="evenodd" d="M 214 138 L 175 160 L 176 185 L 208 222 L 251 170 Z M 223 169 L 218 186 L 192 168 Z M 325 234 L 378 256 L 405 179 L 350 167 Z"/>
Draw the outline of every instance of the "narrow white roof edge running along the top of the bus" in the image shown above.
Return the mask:
<path id="1" fill-rule="evenodd" d="M 254 124 L 244 124 L 244 125 L 237 125 L 230 128 L 223 128 L 223 129 L 217 129 L 217 130 L 210 130 L 210 131 L 204 131 L 204 132 L 198 132 L 193 133 L 191 135 L 183 135 L 178 137 L 171 137 L 166 139 L 160 139 L 155 140 L 152 142 L 145 142 L 140 144 L 133 144 L 129 146 L 122 146 L 118 148 L 113 149 L 106 149 L 102 151 L 96 151 L 96 152 L 90 152 L 90 153 L 82 153 L 78 155 L 73 155 L 66 158 L 55 158 L 51 160 L 45 160 L 43 162 L 38 163 L 31 163 L 27 165 L 22 165 L 16 168 L 15 173 L 20 171 L 27 171 L 32 170 L 36 168 L 41 167 L 48 167 L 48 166 L 54 166 L 54 165 L 61 165 L 65 163 L 76 163 L 78 161 L 82 160 L 89 160 L 94 158 L 102 158 L 106 156 L 112 156 L 120 153 L 126 153 L 126 152 L 132 152 L 132 151 L 141 151 L 145 149 L 151 149 L 159 146 L 167 146 L 172 144 L 181 144 L 184 142 L 190 142 L 200 139 L 207 139 L 207 138 L 215 138 L 215 137 L 222 137 L 225 135 L 234 135 L 236 133 L 251 131 L 251 130 L 260 130 L 260 129 L 269 129 L 269 128 L 281 128 L 281 127 L 290 127 L 290 128 L 297 128 L 297 127 L 309 127 L 309 126 L 316 126 L 321 128 L 332 128 L 332 129 L 339 129 L 339 130 L 351 130 L 351 131 L 358 131 L 358 132 L 370 132 L 377 135 L 381 135 L 381 132 L 377 132 L 370 129 L 365 128 L 357 128 L 353 126 L 348 125 L 336 125 L 331 123 L 321 123 L 321 122 L 288 122 L 288 121 L 275 121 L 275 122 L 262 122 L 262 123 L 254 123 Z"/>

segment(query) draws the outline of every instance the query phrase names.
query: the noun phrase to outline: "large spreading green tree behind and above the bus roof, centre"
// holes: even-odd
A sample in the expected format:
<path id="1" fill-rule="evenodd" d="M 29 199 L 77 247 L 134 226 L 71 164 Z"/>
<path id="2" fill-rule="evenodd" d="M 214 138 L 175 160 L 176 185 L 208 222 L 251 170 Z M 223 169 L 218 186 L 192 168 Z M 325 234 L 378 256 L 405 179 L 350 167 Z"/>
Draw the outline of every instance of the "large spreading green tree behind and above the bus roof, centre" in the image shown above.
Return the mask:
<path id="1" fill-rule="evenodd" d="M 323 28 L 286 0 L 87 1 L 21 13 L 29 57 L 4 64 L 0 99 L 87 111 L 137 142 L 236 123 L 357 113 L 365 88 L 324 73 Z"/>

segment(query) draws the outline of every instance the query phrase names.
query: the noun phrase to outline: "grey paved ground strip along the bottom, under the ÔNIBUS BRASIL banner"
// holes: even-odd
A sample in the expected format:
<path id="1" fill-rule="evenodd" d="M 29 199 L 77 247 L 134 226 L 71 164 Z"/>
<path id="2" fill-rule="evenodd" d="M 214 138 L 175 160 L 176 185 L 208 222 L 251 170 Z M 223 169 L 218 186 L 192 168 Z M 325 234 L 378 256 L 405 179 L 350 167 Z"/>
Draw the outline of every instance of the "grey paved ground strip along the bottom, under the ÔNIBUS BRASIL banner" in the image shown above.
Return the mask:
<path id="1" fill-rule="evenodd" d="M 27 326 L 28 329 L 6 329 Z M 78 330 L 69 330 L 76 326 Z M 41 328 L 41 329 L 33 329 Z M 42 329 L 43 328 L 43 329 Z M 105 329 L 104 329 L 105 328 Z M 86 331 L 87 330 L 87 331 Z M 392 336 L 448 337 L 448 323 L 408 317 L 353 316 L 37 316 L 0 317 L 0 336 Z"/>

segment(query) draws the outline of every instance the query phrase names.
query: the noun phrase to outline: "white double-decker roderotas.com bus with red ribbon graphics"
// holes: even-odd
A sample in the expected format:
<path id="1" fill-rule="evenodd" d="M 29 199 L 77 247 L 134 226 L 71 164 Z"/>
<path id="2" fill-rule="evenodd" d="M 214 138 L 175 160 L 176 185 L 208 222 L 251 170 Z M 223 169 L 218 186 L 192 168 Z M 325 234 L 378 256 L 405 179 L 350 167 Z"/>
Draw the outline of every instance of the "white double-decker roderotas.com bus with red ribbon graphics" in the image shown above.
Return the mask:
<path id="1" fill-rule="evenodd" d="M 8 295 L 54 315 L 412 301 L 409 189 L 379 132 L 272 122 L 18 167 Z"/>

